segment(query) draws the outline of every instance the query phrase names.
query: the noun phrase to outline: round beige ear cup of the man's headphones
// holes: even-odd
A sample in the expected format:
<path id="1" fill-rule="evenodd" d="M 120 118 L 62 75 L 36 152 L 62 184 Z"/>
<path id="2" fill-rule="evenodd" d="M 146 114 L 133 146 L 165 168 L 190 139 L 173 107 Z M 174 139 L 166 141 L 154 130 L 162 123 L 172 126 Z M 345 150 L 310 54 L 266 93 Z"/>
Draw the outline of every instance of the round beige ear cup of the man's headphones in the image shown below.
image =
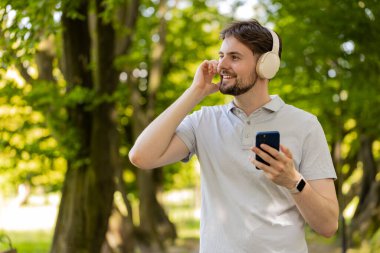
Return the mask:
<path id="1" fill-rule="evenodd" d="M 272 79 L 280 68 L 280 58 L 272 51 L 260 56 L 256 64 L 256 72 L 260 78 Z"/>

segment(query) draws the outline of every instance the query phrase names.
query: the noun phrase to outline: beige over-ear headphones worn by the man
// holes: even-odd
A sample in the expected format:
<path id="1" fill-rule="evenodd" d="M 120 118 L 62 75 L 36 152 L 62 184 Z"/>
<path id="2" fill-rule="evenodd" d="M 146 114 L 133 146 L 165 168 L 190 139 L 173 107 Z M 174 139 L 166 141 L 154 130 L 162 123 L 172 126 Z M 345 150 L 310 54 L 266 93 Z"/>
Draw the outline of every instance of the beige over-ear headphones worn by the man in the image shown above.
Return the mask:
<path id="1" fill-rule="evenodd" d="M 260 78 L 264 79 L 272 79 L 280 68 L 280 57 L 278 56 L 280 41 L 275 32 L 270 29 L 268 30 L 273 38 L 272 51 L 261 55 L 256 64 L 257 74 Z"/>

